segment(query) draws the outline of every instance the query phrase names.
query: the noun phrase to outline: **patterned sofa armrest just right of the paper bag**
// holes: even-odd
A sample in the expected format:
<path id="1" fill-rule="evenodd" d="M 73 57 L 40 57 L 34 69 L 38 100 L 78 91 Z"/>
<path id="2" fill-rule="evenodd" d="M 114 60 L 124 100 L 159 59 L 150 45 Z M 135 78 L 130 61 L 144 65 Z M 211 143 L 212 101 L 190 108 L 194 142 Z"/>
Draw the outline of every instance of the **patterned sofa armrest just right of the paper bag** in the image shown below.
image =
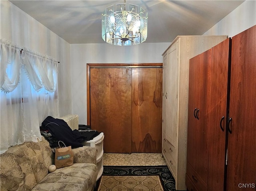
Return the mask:
<path id="1" fill-rule="evenodd" d="M 72 149 L 74 153 L 74 163 L 96 164 L 98 150 L 95 147 L 78 147 Z"/>

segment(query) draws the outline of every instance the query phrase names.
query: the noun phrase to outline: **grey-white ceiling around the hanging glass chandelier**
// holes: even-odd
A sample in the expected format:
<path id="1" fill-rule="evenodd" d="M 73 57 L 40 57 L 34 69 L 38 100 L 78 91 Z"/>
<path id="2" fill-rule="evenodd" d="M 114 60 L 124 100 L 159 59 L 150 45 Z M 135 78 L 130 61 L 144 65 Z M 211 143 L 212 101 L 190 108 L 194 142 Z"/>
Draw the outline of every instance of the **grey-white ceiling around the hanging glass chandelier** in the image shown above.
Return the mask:
<path id="1" fill-rule="evenodd" d="M 70 44 L 104 43 L 101 16 L 122 0 L 10 0 Z M 177 35 L 202 35 L 244 0 L 126 0 L 148 12 L 146 43 L 172 42 Z"/>

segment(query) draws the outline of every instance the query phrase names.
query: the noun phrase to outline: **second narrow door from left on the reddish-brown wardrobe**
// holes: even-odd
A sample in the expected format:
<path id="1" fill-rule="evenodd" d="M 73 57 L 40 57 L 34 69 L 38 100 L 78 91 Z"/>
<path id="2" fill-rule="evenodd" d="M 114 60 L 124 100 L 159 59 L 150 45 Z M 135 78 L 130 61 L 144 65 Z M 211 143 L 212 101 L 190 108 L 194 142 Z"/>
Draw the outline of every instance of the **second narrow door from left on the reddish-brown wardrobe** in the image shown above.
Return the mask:
<path id="1" fill-rule="evenodd" d="M 209 157 L 209 126 L 208 112 L 210 110 L 210 71 L 212 66 L 212 49 L 198 55 L 198 121 L 196 123 L 196 172 L 204 183 L 208 182 Z"/>

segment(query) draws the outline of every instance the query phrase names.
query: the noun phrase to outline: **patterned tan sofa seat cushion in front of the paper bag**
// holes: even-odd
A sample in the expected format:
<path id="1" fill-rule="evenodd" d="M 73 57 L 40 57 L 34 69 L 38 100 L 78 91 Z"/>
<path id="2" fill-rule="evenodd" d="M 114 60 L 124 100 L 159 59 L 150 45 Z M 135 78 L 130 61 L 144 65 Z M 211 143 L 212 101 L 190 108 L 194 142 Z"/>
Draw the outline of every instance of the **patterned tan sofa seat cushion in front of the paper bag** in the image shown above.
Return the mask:
<path id="1" fill-rule="evenodd" d="M 49 173 L 32 191 L 91 191 L 97 178 L 97 166 L 74 163 Z"/>

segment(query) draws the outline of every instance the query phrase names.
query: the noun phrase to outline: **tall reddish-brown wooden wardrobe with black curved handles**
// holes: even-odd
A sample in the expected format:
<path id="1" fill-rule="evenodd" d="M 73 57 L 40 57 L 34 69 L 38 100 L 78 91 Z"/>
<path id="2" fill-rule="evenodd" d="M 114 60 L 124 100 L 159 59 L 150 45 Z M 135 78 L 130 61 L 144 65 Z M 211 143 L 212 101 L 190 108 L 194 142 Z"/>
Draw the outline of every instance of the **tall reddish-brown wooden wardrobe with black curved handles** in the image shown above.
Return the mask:
<path id="1" fill-rule="evenodd" d="M 256 26 L 190 59 L 189 191 L 256 190 Z"/>

